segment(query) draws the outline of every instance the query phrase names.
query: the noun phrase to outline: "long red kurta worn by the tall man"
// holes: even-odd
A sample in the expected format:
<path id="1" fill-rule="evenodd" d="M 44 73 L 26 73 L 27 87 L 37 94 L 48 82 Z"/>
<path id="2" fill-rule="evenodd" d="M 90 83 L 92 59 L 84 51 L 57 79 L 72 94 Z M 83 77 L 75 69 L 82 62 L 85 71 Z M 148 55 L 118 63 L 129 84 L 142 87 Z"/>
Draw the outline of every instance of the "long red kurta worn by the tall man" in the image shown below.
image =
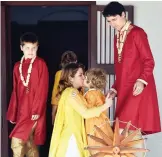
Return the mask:
<path id="1" fill-rule="evenodd" d="M 121 121 L 130 121 L 146 133 L 161 131 L 156 86 L 153 76 L 154 59 L 147 34 L 134 26 L 129 32 L 122 51 L 122 61 L 118 63 L 116 38 L 114 45 L 116 81 L 112 88 L 117 91 L 116 115 Z M 137 79 L 148 83 L 143 92 L 133 96 L 133 86 Z M 125 124 L 120 124 L 121 128 Z M 133 129 L 133 127 L 131 128 Z"/>

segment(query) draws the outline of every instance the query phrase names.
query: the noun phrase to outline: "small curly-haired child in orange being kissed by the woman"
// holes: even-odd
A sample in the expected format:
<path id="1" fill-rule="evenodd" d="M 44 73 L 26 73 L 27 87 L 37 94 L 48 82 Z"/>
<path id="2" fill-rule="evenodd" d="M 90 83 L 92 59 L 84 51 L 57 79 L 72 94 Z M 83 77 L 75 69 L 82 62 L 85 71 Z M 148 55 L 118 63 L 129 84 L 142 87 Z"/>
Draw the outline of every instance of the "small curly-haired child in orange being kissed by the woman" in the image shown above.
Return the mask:
<path id="1" fill-rule="evenodd" d="M 86 71 L 84 86 L 88 91 L 84 94 L 87 101 L 87 108 L 101 106 L 105 103 L 105 96 L 103 90 L 106 86 L 106 73 L 99 68 L 92 68 Z M 104 111 L 99 117 L 94 117 L 85 120 L 86 133 L 100 137 L 94 130 L 94 125 L 100 127 L 102 131 L 113 138 L 113 131 L 109 124 L 108 112 Z M 87 138 L 89 146 L 100 146 L 101 144 L 95 142 L 90 137 Z M 91 153 L 95 153 L 92 151 Z"/>

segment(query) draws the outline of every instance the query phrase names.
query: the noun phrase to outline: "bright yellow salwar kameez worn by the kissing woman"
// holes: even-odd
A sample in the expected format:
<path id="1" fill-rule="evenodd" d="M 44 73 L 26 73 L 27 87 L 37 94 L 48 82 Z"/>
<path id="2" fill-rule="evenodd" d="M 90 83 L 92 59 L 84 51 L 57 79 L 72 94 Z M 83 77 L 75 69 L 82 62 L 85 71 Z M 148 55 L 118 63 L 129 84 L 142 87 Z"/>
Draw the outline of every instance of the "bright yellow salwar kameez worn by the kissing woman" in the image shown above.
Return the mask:
<path id="1" fill-rule="evenodd" d="M 84 118 L 99 116 L 103 107 L 87 109 L 77 89 L 62 93 L 51 138 L 49 157 L 88 157 Z"/>

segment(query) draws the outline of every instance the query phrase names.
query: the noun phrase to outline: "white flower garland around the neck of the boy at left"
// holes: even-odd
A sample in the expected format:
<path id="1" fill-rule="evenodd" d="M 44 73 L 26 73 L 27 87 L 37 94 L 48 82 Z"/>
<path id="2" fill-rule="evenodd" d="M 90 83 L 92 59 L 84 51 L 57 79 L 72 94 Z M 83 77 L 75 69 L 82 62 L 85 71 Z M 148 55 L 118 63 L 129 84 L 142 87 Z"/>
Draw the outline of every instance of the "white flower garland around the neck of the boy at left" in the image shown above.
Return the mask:
<path id="1" fill-rule="evenodd" d="M 24 76 L 22 75 L 22 63 L 23 63 L 24 58 L 25 58 L 24 56 L 21 58 L 20 66 L 19 66 L 19 72 L 20 72 L 20 78 L 21 78 L 21 81 L 23 82 L 23 85 L 25 87 L 28 87 L 29 80 L 30 80 L 30 74 L 32 72 L 32 64 L 33 64 L 36 56 L 34 58 L 32 58 L 31 61 L 30 61 L 30 65 L 29 65 L 29 68 L 28 68 L 28 75 L 26 77 L 26 82 L 25 82 Z"/>

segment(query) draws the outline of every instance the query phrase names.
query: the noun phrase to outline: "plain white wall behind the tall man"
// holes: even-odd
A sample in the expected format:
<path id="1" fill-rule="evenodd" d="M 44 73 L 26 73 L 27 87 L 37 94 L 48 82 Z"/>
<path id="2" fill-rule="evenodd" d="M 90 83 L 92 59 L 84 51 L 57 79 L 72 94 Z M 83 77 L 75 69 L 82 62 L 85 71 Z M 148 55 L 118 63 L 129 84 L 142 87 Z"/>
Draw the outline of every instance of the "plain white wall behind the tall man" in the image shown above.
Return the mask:
<path id="1" fill-rule="evenodd" d="M 97 5 L 106 5 L 110 1 L 97 1 Z M 134 6 L 134 23 L 142 27 L 149 38 L 155 59 L 154 76 L 158 92 L 158 101 L 162 121 L 162 2 L 119 1 L 123 5 Z M 162 124 L 162 122 L 161 122 Z M 151 135 L 147 147 L 151 150 L 147 157 L 162 157 L 162 133 Z"/>

